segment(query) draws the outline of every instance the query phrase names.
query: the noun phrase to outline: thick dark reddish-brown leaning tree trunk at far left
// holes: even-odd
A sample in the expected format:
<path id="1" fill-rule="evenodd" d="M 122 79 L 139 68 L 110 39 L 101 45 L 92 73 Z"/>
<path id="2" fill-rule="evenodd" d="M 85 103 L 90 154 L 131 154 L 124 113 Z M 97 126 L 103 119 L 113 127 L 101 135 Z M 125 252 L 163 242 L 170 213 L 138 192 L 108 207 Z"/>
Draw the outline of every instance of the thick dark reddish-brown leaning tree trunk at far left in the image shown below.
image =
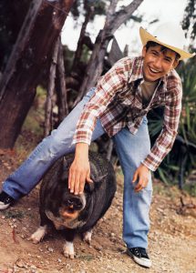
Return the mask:
<path id="1" fill-rule="evenodd" d="M 0 147 L 12 148 L 74 0 L 35 0 L 0 82 Z"/>

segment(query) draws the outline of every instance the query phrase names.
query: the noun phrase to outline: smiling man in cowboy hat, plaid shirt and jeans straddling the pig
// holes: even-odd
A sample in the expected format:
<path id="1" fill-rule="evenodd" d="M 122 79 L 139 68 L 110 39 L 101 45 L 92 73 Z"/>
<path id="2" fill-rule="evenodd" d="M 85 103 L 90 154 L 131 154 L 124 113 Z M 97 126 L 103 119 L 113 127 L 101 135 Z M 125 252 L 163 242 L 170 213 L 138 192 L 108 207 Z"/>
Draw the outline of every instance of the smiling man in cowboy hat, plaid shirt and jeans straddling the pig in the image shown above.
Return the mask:
<path id="1" fill-rule="evenodd" d="M 160 25 L 154 35 L 140 28 L 142 56 L 125 57 L 98 81 L 87 96 L 47 136 L 14 174 L 5 180 L 0 209 L 25 196 L 58 157 L 75 150 L 68 184 L 76 195 L 91 182 L 88 147 L 107 132 L 124 174 L 123 239 L 128 254 L 150 268 L 147 254 L 152 193 L 150 170 L 155 171 L 177 135 L 181 114 L 181 79 L 174 70 L 179 60 L 194 56 L 183 50 L 180 26 Z M 150 149 L 146 115 L 165 106 L 160 136 Z M 131 183 L 132 182 L 132 183 Z"/>

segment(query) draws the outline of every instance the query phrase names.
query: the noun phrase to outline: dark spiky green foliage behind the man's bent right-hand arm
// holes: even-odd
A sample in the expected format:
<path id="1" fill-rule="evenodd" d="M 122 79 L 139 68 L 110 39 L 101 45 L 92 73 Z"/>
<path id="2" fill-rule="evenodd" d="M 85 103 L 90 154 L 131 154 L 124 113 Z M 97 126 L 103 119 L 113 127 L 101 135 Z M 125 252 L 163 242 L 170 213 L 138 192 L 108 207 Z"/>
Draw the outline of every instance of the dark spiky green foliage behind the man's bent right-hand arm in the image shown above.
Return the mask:
<path id="1" fill-rule="evenodd" d="M 178 72 L 183 87 L 178 141 L 175 142 L 170 154 L 165 157 L 155 173 L 156 177 L 160 177 L 166 184 L 170 182 L 177 184 L 182 173 L 188 179 L 191 171 L 196 168 L 196 68 L 194 59 L 181 63 Z M 152 142 L 160 134 L 161 126 L 162 109 L 154 109 L 149 116 Z"/>

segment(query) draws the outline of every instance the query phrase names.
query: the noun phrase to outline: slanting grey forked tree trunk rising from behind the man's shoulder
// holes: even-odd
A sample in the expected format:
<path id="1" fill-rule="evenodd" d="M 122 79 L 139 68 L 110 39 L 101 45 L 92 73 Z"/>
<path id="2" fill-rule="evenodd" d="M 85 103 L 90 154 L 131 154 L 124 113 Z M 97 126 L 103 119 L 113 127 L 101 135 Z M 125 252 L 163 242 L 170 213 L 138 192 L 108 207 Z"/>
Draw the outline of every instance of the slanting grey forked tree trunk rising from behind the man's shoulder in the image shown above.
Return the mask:
<path id="1" fill-rule="evenodd" d="M 82 96 L 88 92 L 90 87 L 96 86 L 98 77 L 101 75 L 103 70 L 103 61 L 107 53 L 109 41 L 119 26 L 129 19 L 130 15 L 133 14 L 142 2 L 143 0 L 134 0 L 119 12 L 115 12 L 118 1 L 111 0 L 106 17 L 106 23 L 96 39 L 95 47 L 88 63 L 86 76 L 84 77 L 83 83 L 79 89 L 75 105 L 77 105 Z"/>

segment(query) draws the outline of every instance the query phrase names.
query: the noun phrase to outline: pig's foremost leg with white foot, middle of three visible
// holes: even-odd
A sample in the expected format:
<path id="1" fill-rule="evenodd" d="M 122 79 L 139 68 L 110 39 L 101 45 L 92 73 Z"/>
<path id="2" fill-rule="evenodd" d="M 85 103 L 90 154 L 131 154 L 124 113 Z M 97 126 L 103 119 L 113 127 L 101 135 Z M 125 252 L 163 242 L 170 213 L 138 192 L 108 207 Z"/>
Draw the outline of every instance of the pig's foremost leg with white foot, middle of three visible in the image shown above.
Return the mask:
<path id="1" fill-rule="evenodd" d="M 63 246 L 63 253 L 67 258 L 74 258 L 75 255 L 73 244 L 75 233 L 76 231 L 74 229 L 67 229 L 65 232 L 66 243 Z"/>

